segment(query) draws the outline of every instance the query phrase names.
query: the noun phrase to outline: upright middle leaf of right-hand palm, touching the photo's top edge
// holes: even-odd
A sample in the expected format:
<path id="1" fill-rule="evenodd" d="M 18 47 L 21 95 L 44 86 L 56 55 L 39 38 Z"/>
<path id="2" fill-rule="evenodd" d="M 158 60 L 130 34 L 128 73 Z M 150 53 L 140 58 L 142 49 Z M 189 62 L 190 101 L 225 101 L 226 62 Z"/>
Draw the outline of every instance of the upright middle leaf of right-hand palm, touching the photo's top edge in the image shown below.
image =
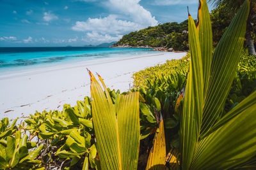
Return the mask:
<path id="1" fill-rule="evenodd" d="M 196 29 L 198 30 L 202 55 L 202 72 L 204 78 L 205 93 L 208 86 L 212 62 L 212 25 L 206 0 L 199 1 Z"/>

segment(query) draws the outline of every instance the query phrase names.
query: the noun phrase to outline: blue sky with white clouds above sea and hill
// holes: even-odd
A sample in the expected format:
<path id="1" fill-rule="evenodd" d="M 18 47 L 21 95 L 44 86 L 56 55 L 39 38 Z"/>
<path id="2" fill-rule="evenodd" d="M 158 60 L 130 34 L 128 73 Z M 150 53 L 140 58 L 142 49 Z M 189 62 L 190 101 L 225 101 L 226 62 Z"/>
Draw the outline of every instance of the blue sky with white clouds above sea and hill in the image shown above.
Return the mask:
<path id="1" fill-rule="evenodd" d="M 0 0 L 0 47 L 83 46 L 197 16 L 198 0 Z M 212 6 L 209 6 L 212 10 Z"/>

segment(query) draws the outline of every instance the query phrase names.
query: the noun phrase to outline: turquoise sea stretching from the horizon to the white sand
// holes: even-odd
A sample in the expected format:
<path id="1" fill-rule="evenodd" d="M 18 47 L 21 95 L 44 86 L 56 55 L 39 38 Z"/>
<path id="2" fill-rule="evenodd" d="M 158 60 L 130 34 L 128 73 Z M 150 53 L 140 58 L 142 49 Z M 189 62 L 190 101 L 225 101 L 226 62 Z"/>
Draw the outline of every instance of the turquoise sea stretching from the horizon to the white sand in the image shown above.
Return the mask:
<path id="1" fill-rule="evenodd" d="M 72 62 L 92 62 L 159 53 L 146 48 L 0 47 L 0 74 Z"/>

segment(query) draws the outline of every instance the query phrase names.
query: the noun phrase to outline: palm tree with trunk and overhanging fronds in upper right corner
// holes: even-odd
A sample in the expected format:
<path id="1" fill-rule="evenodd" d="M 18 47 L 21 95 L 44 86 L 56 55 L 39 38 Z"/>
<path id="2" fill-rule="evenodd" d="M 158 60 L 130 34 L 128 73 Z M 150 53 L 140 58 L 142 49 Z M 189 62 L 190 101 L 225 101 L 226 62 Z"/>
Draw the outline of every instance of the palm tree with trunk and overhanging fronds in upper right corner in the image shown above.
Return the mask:
<path id="1" fill-rule="evenodd" d="M 216 4 L 216 6 L 221 6 L 224 5 L 225 8 L 230 10 L 232 13 L 236 13 L 237 10 L 241 7 L 241 5 L 244 3 L 244 0 L 208 0 L 211 3 Z M 253 43 L 253 38 L 252 38 L 252 31 L 253 31 L 253 21 L 256 19 L 256 0 L 251 0 L 250 4 L 250 13 L 248 16 L 247 20 L 247 25 L 246 25 L 246 34 L 245 34 L 245 39 L 246 39 L 246 45 L 248 46 L 249 50 L 249 55 L 256 55 L 255 52 L 255 46 Z"/>

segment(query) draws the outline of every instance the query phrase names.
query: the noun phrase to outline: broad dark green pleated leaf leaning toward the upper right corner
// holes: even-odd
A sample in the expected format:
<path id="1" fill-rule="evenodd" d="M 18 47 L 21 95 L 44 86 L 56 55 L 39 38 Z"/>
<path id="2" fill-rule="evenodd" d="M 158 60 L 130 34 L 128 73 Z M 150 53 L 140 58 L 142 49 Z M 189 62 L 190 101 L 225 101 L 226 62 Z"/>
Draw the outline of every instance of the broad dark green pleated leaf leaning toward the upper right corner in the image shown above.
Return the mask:
<path id="1" fill-rule="evenodd" d="M 249 7 L 250 2 L 246 0 L 212 56 L 209 85 L 205 94 L 202 134 L 212 127 L 223 110 L 243 48 Z"/>

